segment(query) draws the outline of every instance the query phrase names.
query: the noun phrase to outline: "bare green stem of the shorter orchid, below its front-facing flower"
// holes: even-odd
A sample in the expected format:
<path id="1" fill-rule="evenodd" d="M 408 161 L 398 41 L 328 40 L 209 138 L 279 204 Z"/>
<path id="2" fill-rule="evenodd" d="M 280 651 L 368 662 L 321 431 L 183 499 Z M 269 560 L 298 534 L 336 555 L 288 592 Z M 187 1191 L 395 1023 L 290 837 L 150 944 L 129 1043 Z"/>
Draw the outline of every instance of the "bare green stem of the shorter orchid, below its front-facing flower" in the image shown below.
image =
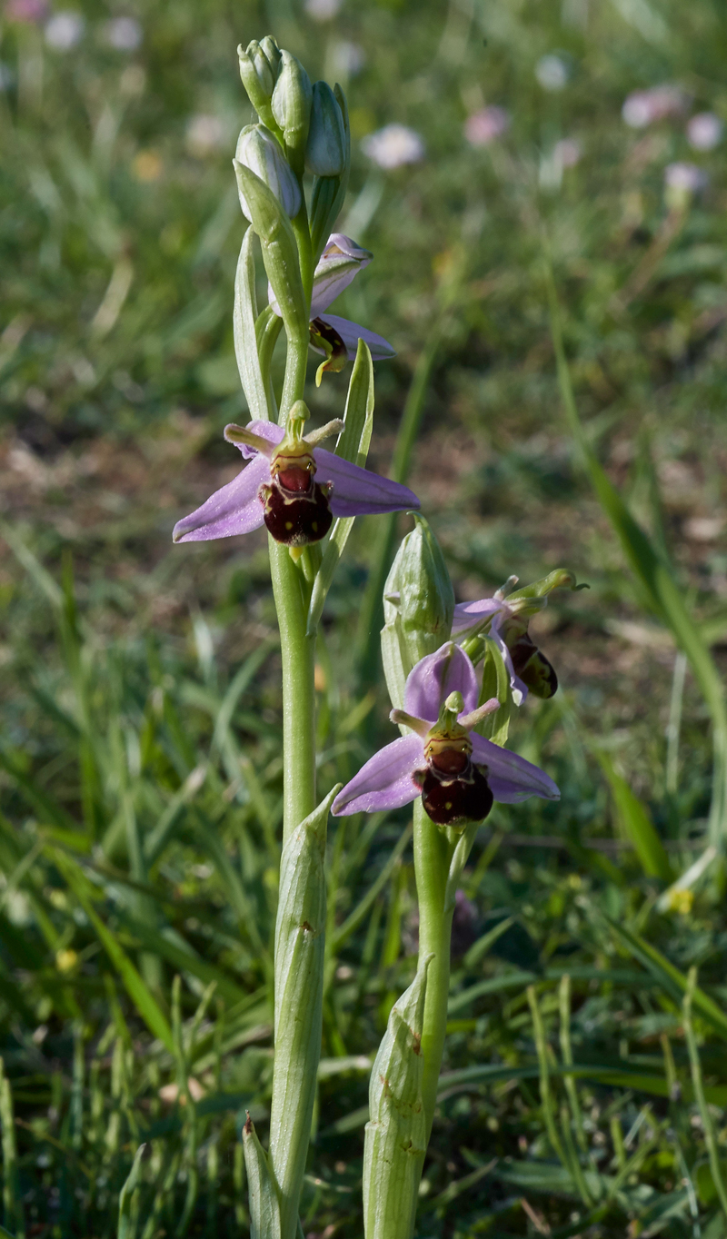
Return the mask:
<path id="1" fill-rule="evenodd" d="M 455 898 L 447 877 L 455 844 L 427 818 L 421 800 L 414 805 L 414 871 L 419 898 L 419 954 L 433 954 L 426 980 L 421 1052 L 424 1057 L 422 1098 L 426 1139 L 431 1135 L 437 1099 L 437 1080 L 445 1052 L 447 1001 L 450 996 L 450 939 Z"/>

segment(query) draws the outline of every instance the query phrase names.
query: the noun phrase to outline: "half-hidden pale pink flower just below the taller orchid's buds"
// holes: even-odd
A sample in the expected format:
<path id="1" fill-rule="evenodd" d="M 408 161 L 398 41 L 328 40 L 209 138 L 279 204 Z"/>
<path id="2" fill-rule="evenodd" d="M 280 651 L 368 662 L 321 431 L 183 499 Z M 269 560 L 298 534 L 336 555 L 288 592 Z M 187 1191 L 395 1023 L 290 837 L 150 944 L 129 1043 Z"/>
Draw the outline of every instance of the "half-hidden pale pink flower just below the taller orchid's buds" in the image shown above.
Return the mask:
<path id="1" fill-rule="evenodd" d="M 313 292 L 311 297 L 311 346 L 322 353 L 326 361 L 318 367 L 316 383 L 320 385 L 324 370 L 337 373 L 347 361 L 354 361 L 359 339 L 369 346 L 374 362 L 395 357 L 396 352 L 383 336 L 375 331 L 359 327 L 357 322 L 341 318 L 334 313 L 323 313 L 332 301 L 339 296 L 350 281 L 368 266 L 373 259 L 368 249 L 357 245 L 343 233 L 332 233 L 318 259 L 313 273 Z M 269 290 L 270 305 L 276 315 L 280 307 L 272 289 Z"/>

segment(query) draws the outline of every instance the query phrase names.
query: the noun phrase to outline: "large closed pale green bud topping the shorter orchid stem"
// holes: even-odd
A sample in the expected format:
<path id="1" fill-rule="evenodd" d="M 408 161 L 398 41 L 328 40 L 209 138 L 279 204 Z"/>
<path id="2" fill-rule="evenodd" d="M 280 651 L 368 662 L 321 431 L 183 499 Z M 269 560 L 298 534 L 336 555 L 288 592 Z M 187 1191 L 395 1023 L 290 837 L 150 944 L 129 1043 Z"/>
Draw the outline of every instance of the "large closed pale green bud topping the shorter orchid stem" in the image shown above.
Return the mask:
<path id="1" fill-rule="evenodd" d="M 450 637 L 455 593 L 440 544 L 424 517 L 399 548 L 384 586 L 381 658 L 391 704 L 400 709 L 412 667 Z"/>

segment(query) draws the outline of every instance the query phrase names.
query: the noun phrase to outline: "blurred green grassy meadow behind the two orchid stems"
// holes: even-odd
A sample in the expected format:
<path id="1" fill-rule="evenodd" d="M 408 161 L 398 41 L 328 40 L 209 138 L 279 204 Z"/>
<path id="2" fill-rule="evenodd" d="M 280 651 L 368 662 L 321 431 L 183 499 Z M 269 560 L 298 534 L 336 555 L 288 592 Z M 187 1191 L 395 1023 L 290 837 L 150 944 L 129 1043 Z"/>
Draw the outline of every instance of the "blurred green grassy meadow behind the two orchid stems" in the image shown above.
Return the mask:
<path id="1" fill-rule="evenodd" d="M 723 1239 L 715 712 L 582 468 L 545 261 L 586 444 L 671 565 L 717 675 L 727 183 L 723 147 L 695 149 L 687 125 L 727 120 L 720 0 L 7 0 L 5 1227 L 246 1233 L 239 1127 L 248 1108 L 264 1132 L 271 1064 L 276 626 L 263 538 L 172 549 L 170 533 L 238 468 L 220 436 L 245 416 L 235 47 L 266 32 L 348 93 L 339 227 L 375 261 L 334 309 L 398 349 L 378 367 L 373 463 L 389 467 L 414 377 L 410 482 L 457 597 L 561 565 L 590 584 L 534 626 L 561 689 L 513 735 L 562 800 L 498 807 L 467 873 L 419 1234 Z M 628 125 L 624 99 L 663 84 L 666 114 Z M 488 108 L 504 109 L 494 136 Z M 419 162 L 365 156 L 391 121 L 421 135 Z M 675 164 L 700 187 L 669 190 Z M 341 413 L 347 377 L 311 388 L 316 418 Z M 390 736 L 378 664 L 352 643 L 374 535 L 359 522 L 326 612 L 322 790 Z M 403 812 L 331 828 L 302 1217 L 317 1239 L 360 1235 L 369 1056 L 416 952 L 406 826 Z"/>

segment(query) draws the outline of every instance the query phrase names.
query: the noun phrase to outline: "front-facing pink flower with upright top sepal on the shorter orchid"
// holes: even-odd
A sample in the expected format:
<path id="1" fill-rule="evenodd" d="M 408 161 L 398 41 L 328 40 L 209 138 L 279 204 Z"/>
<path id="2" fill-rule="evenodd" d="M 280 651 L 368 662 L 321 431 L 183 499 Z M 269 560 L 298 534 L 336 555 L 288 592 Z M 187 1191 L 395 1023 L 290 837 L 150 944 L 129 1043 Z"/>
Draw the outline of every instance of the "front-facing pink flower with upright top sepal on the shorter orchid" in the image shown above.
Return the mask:
<path id="1" fill-rule="evenodd" d="M 333 813 L 398 809 L 421 795 L 432 821 L 462 829 L 487 818 L 493 800 L 557 800 L 560 792 L 544 771 L 473 730 L 498 709 L 494 699 L 479 707 L 477 699 L 474 668 L 463 649 L 447 642 L 422 658 L 407 676 L 404 710 L 390 714 L 411 735 L 375 753 L 338 793 Z"/>

